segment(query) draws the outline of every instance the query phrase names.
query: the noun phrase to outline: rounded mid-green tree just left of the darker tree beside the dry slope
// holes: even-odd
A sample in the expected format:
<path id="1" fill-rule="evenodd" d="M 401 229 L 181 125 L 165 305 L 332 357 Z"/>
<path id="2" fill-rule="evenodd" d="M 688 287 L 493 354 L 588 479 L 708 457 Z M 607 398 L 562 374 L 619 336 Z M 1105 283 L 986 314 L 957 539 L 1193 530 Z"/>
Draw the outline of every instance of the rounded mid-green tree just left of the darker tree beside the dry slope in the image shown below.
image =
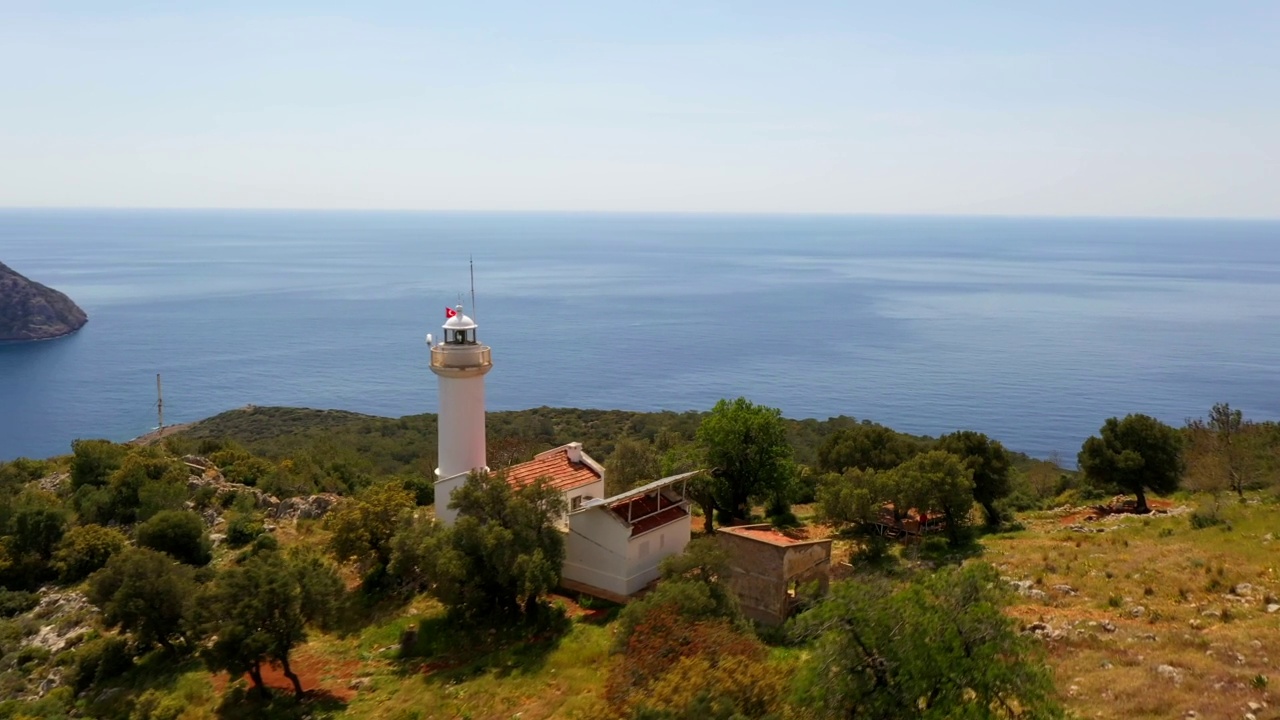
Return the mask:
<path id="1" fill-rule="evenodd" d="M 973 479 L 964 461 L 950 452 L 932 450 L 902 462 L 890 478 L 895 509 L 941 512 L 951 546 L 965 541 L 964 530 L 973 509 Z"/>

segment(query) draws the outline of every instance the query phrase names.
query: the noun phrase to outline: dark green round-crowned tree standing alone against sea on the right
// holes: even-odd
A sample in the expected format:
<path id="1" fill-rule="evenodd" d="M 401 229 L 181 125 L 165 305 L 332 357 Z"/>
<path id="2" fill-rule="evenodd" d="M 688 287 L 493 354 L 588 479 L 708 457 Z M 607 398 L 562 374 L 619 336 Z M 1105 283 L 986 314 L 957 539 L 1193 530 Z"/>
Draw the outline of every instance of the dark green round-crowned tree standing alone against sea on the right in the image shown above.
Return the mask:
<path id="1" fill-rule="evenodd" d="M 1183 475 L 1178 430 L 1147 415 L 1108 418 L 1076 460 L 1094 484 L 1137 495 L 1139 512 L 1148 511 L 1147 491 L 1174 492 Z"/>

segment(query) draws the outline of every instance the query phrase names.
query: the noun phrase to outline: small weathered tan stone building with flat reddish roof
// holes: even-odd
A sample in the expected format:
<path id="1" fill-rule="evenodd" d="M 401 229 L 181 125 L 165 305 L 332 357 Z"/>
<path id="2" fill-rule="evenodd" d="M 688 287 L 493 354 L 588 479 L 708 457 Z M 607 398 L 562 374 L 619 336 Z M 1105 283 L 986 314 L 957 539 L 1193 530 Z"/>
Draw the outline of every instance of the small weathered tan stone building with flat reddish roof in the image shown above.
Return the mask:
<path id="1" fill-rule="evenodd" d="M 781 625 L 805 593 L 827 592 L 829 538 L 808 539 L 769 524 L 721 528 L 717 537 L 728 553 L 730 588 L 751 620 Z"/>

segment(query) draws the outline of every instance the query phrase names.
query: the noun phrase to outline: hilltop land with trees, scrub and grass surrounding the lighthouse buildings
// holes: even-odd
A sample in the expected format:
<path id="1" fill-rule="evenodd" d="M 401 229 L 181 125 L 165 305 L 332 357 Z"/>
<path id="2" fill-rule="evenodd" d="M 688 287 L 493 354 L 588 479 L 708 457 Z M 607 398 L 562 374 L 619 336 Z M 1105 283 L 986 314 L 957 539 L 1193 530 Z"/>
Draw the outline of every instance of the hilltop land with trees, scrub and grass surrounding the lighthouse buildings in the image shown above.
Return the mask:
<path id="1" fill-rule="evenodd" d="M 152 446 L 78 441 L 70 456 L 0 464 L 0 696 L 20 698 L 0 717 L 1210 717 L 1272 705 L 1275 427 L 1226 406 L 1178 430 L 1108 439 L 1111 425 L 1091 443 L 1129 470 L 1169 450 L 1134 436 L 1172 438 L 1176 462 L 1157 464 L 1178 470 L 1172 486 L 1138 474 L 1137 487 L 1175 493 L 1151 501 L 1157 514 L 1088 521 L 1082 503 L 1134 487 L 1134 473 L 1080 475 L 978 433 L 795 421 L 745 400 L 490 414 L 497 468 L 577 439 L 620 489 L 717 457 L 690 486 L 708 527 L 763 516 L 836 533 L 847 565 L 782 629 L 742 619 L 710 538 L 625 610 L 557 593 L 558 496 L 538 484 L 472 477 L 458 524 L 433 523 L 434 416 L 246 409 Z M 872 532 L 906 509 L 928 509 L 937 534 Z"/>

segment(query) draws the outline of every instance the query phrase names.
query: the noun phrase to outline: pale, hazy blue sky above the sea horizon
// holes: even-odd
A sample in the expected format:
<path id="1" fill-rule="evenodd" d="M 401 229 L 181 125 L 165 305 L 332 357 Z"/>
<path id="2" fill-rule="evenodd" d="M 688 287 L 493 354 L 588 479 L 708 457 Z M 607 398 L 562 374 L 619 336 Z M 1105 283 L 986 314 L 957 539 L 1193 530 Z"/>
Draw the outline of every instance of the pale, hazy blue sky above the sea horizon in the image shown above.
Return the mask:
<path id="1" fill-rule="evenodd" d="M 0 206 L 1276 218 L 1277 38 L 1276 0 L 0 0 Z"/>

